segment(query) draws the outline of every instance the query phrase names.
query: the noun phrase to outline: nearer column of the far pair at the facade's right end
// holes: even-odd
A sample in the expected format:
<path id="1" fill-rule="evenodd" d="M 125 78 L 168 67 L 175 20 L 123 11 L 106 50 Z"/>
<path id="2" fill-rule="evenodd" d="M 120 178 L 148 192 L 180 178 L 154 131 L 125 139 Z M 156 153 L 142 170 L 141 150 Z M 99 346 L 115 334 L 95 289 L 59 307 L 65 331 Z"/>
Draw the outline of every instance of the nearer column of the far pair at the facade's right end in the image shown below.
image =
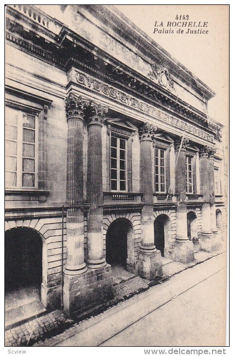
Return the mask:
<path id="1" fill-rule="evenodd" d="M 209 147 L 204 146 L 199 151 L 200 158 L 200 192 L 203 195 L 203 206 L 201 209 L 201 250 L 212 251 L 212 231 L 211 231 L 211 167 L 208 158 Z"/>

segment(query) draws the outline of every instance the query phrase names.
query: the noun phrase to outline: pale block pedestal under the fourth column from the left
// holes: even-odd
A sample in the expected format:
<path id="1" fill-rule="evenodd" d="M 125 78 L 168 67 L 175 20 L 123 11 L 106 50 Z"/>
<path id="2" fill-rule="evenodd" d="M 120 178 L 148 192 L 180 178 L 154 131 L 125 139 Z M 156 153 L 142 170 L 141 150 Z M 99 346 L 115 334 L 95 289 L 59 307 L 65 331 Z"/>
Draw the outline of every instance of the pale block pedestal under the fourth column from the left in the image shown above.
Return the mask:
<path id="1" fill-rule="evenodd" d="M 194 261 L 194 246 L 189 240 L 176 240 L 173 249 L 173 260 L 181 263 L 190 263 Z"/>

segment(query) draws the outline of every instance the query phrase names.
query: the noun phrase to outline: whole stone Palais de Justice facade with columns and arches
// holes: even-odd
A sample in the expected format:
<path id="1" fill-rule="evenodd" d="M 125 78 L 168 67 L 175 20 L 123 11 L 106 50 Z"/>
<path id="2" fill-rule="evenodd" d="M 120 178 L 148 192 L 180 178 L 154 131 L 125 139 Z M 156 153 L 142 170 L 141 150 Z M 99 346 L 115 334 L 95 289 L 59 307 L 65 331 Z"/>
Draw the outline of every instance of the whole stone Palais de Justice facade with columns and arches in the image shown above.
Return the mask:
<path id="1" fill-rule="evenodd" d="M 33 280 L 82 314 L 112 297 L 111 265 L 154 279 L 220 247 L 210 88 L 112 6 L 8 5 L 5 43 L 10 291 Z"/>

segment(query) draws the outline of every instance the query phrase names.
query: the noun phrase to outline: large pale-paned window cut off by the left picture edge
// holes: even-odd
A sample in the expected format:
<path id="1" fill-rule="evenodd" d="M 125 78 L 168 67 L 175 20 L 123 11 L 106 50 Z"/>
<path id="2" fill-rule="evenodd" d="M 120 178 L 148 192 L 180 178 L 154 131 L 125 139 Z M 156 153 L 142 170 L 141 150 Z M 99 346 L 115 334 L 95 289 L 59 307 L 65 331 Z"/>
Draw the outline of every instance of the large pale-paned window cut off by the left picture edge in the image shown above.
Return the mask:
<path id="1" fill-rule="evenodd" d="M 5 185 L 36 187 L 36 116 L 11 108 L 5 115 Z"/>

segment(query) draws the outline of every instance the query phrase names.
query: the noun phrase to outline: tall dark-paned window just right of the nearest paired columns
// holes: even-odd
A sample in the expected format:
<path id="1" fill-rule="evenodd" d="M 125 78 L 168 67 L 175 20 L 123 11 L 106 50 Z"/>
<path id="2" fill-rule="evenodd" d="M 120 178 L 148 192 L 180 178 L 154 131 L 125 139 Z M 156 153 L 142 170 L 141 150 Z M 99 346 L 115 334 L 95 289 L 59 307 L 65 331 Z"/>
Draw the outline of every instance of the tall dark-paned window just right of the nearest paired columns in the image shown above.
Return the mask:
<path id="1" fill-rule="evenodd" d="M 126 191 L 126 139 L 111 135 L 110 182 L 111 190 Z"/>

